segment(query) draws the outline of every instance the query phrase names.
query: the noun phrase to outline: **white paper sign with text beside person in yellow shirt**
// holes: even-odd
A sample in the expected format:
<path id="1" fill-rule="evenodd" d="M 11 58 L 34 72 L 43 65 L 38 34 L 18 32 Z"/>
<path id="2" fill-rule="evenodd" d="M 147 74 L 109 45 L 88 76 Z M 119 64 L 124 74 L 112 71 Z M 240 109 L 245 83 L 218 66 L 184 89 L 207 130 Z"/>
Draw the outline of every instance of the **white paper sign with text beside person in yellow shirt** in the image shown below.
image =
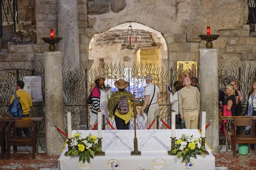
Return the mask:
<path id="1" fill-rule="evenodd" d="M 41 76 L 23 76 L 24 91 L 29 92 L 32 102 L 42 102 Z"/>

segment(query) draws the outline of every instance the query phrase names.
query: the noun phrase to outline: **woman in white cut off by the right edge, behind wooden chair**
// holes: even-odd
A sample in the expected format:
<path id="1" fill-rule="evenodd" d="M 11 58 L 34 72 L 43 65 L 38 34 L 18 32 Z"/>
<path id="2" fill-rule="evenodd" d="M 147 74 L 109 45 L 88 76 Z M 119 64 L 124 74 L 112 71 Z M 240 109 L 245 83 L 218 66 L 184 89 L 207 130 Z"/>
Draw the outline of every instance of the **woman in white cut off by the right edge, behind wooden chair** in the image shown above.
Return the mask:
<path id="1" fill-rule="evenodd" d="M 256 116 L 256 81 L 250 86 L 245 114 L 247 116 Z M 250 134 L 250 126 L 245 127 L 245 134 Z"/>

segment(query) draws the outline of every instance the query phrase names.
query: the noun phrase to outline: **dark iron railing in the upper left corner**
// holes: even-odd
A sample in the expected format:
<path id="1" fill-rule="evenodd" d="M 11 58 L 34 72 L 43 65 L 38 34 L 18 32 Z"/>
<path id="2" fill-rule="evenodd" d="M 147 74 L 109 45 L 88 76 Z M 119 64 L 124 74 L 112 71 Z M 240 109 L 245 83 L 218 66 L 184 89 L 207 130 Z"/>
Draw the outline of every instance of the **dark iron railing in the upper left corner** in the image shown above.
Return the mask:
<path id="1" fill-rule="evenodd" d="M 13 24 L 14 31 L 16 30 L 15 23 L 18 23 L 18 0 L 1 0 L 0 14 L 0 33 L 3 35 L 3 26 Z"/>

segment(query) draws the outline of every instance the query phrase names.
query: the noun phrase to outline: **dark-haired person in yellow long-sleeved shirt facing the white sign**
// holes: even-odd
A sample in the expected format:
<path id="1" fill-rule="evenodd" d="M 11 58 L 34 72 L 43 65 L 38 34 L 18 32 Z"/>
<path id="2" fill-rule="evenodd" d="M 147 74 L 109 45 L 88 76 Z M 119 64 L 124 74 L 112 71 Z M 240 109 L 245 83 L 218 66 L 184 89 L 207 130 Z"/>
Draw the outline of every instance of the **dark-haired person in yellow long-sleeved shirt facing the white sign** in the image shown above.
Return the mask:
<path id="1" fill-rule="evenodd" d="M 16 85 L 15 85 L 15 88 L 17 90 L 16 95 L 17 95 L 17 98 L 20 97 L 19 101 L 22 107 L 22 117 L 30 117 L 29 111 L 30 111 L 30 107 L 32 107 L 32 100 L 31 100 L 30 94 L 23 90 L 24 85 L 25 83 L 21 80 L 16 82 Z M 12 94 L 10 105 L 12 104 L 13 100 L 14 100 L 14 94 Z M 25 136 L 31 136 L 30 127 L 17 128 L 17 136 L 22 136 L 22 130 Z"/>

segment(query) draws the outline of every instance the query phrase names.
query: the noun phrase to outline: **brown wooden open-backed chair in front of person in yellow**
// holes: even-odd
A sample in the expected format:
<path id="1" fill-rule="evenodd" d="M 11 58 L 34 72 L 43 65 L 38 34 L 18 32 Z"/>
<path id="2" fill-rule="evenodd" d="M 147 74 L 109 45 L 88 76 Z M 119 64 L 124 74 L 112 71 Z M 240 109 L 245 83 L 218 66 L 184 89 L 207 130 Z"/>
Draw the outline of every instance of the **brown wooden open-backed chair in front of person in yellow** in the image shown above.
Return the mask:
<path id="1" fill-rule="evenodd" d="M 17 136 L 18 127 L 31 127 L 32 136 Z M 12 130 L 12 133 L 11 133 Z M 7 159 L 10 159 L 10 147 L 13 145 L 14 150 L 17 150 L 17 145 L 32 145 L 33 159 L 36 152 L 36 123 L 33 124 L 32 119 L 15 120 L 7 126 L 6 135 Z"/>

